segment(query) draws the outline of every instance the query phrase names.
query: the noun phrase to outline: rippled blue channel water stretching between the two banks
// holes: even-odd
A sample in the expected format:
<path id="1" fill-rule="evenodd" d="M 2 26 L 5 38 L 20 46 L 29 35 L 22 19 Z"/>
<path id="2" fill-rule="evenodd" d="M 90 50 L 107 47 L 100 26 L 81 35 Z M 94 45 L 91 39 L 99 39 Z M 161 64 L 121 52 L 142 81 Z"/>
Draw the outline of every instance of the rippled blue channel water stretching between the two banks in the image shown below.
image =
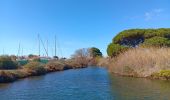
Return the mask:
<path id="1" fill-rule="evenodd" d="M 169 100 L 170 82 L 111 75 L 89 67 L 0 85 L 0 100 Z"/>

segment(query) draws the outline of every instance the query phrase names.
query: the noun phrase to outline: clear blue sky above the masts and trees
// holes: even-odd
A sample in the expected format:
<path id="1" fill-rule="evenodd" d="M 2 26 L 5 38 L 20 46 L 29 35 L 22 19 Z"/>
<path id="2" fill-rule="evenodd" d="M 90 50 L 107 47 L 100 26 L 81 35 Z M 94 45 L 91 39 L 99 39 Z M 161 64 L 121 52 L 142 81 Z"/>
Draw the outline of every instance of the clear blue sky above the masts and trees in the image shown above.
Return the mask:
<path id="1" fill-rule="evenodd" d="M 38 54 L 38 37 L 54 55 L 107 45 L 131 28 L 170 28 L 170 0 L 0 0 L 0 54 Z M 45 51 L 41 46 L 41 55 Z"/>

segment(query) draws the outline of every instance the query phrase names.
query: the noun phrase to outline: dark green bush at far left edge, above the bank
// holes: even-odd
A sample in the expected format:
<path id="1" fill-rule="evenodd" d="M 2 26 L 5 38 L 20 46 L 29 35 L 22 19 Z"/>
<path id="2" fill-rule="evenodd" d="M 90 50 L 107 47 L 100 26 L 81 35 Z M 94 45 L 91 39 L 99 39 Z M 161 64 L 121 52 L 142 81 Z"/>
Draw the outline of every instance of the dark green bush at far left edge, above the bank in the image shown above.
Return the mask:
<path id="1" fill-rule="evenodd" d="M 17 69 L 18 64 L 9 56 L 0 56 L 0 69 Z"/>

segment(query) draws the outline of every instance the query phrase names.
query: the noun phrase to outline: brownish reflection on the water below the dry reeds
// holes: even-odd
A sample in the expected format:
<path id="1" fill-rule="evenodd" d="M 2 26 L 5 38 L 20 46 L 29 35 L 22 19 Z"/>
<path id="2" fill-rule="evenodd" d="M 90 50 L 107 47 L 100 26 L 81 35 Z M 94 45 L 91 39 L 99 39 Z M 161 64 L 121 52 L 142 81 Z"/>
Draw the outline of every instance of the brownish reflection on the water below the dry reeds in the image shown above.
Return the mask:
<path id="1" fill-rule="evenodd" d="M 112 75 L 115 100 L 169 100 L 170 82 Z"/>

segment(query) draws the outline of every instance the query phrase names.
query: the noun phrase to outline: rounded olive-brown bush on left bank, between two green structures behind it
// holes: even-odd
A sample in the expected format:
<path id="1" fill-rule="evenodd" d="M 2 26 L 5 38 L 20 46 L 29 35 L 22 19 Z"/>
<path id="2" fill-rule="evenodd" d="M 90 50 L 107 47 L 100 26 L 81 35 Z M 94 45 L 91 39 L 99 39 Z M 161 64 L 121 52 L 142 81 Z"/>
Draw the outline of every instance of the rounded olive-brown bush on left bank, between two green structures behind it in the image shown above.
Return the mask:
<path id="1" fill-rule="evenodd" d="M 32 75 L 41 75 L 46 73 L 45 66 L 40 62 L 35 62 L 35 61 L 26 64 L 24 66 L 24 69 L 26 69 Z"/>

